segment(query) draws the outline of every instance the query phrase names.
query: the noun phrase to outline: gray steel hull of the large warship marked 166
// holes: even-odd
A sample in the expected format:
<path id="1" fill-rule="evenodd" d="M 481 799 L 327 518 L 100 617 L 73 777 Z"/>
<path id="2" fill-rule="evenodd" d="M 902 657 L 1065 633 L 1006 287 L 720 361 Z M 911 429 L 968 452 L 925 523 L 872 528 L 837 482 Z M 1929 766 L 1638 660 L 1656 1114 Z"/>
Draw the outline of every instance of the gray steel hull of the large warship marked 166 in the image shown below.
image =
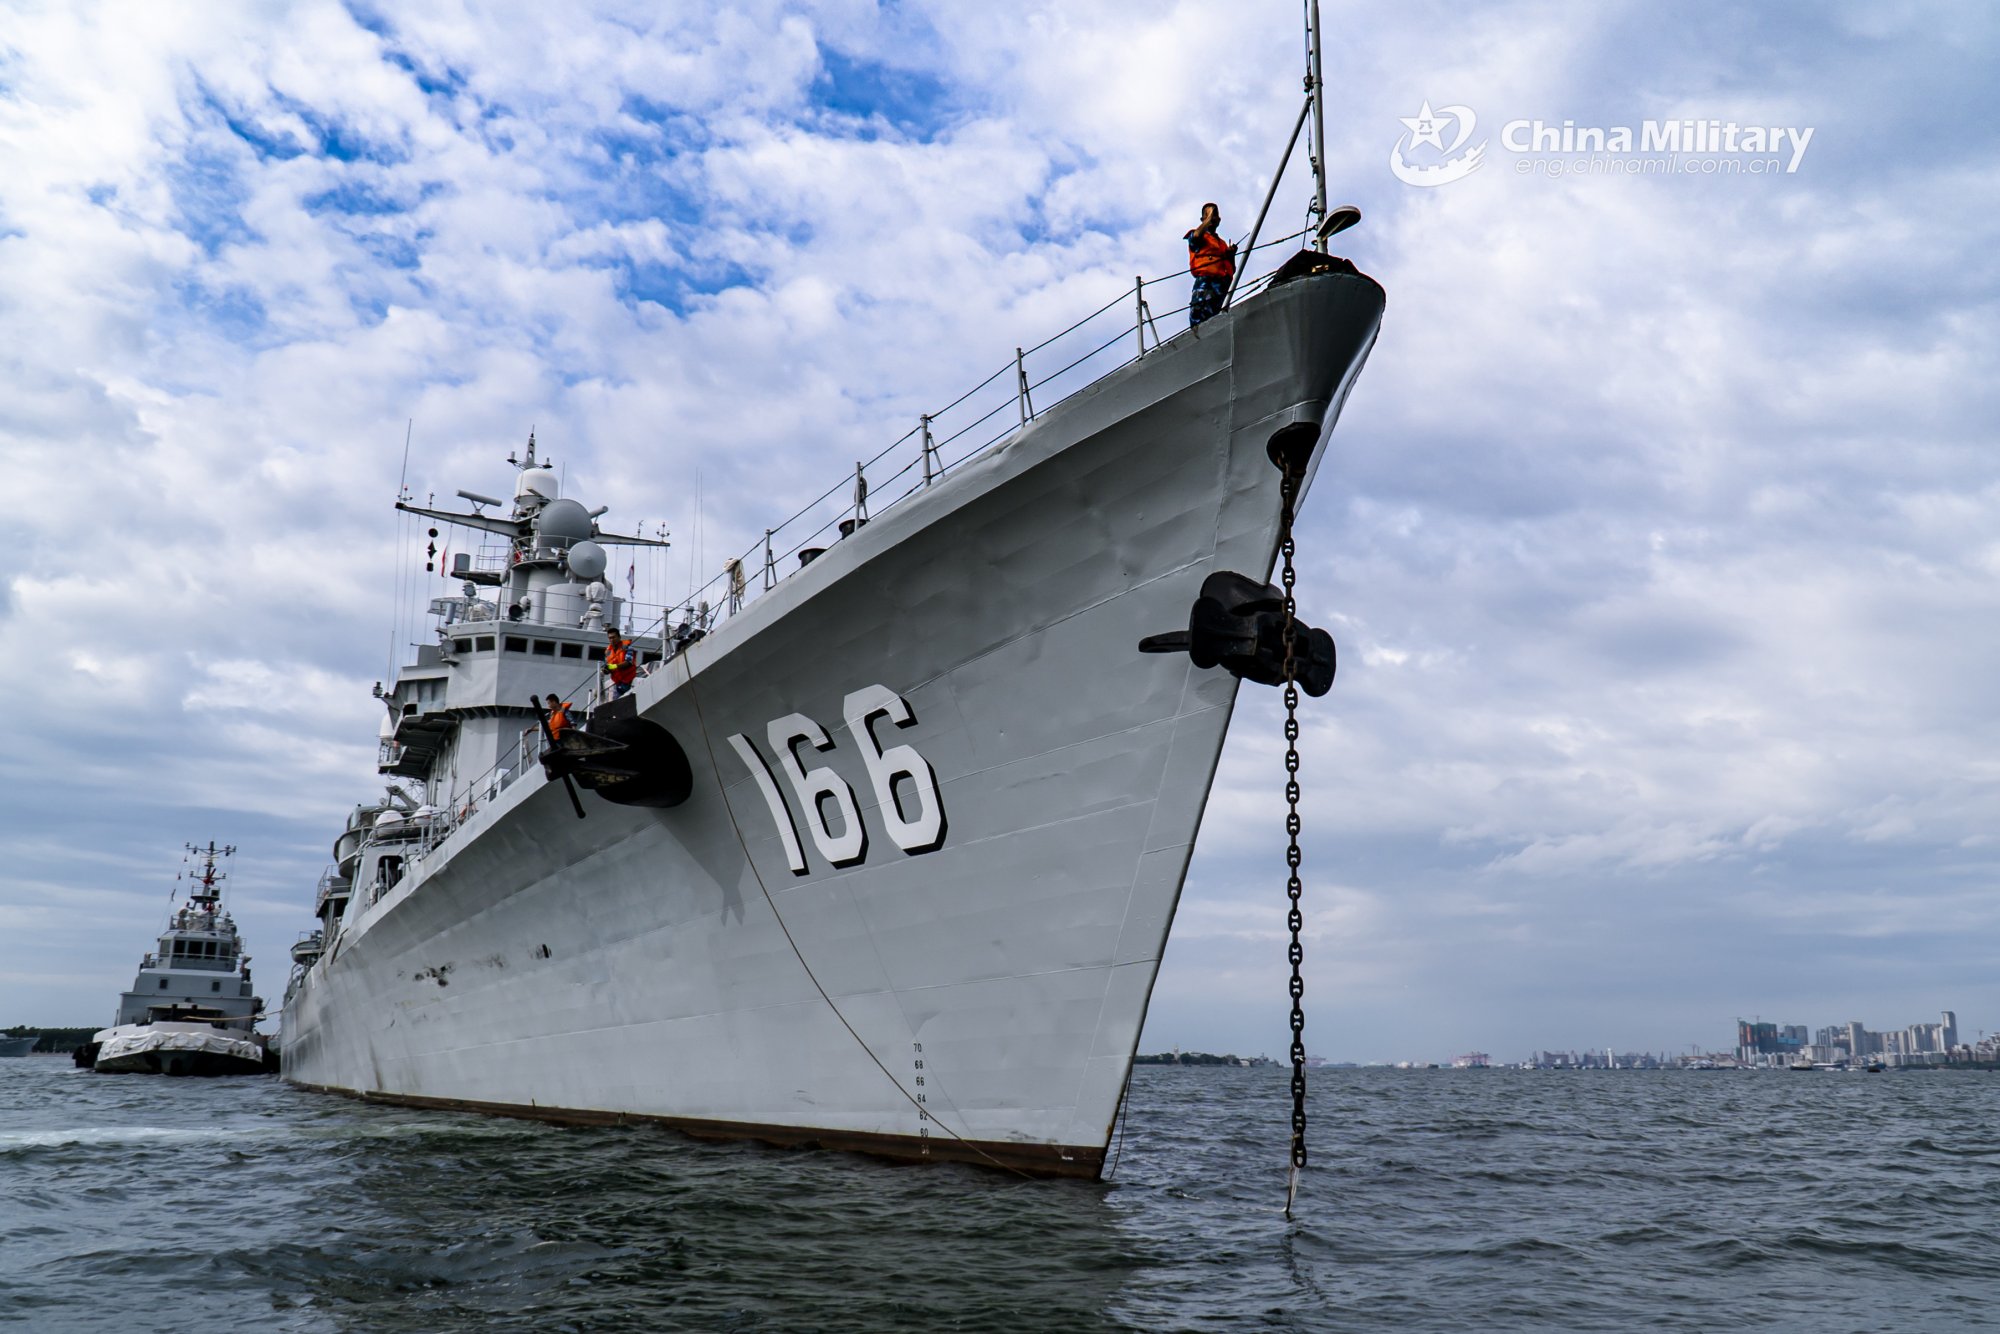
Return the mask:
<path id="1" fill-rule="evenodd" d="M 284 1078 L 1096 1176 L 1238 686 L 1136 644 L 1268 578 L 1266 442 L 1380 316 L 1274 286 L 784 578 L 638 684 L 692 796 L 508 786 L 356 894 Z"/>

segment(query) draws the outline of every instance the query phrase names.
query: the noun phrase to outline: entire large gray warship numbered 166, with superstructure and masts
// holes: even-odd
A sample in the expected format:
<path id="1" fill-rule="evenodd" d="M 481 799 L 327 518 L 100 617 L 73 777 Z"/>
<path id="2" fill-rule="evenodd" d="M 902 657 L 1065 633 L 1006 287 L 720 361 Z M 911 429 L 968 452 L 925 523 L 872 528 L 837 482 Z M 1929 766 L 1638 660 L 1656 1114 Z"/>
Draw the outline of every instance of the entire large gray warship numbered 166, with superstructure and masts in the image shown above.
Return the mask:
<path id="1" fill-rule="evenodd" d="M 1172 338 L 1138 282 L 1136 352 L 1060 402 L 1016 350 L 998 438 L 948 460 L 924 416 L 714 608 L 620 596 L 610 548 L 660 538 L 532 436 L 510 496 L 400 496 L 456 592 L 378 686 L 392 782 L 294 946 L 284 1078 L 1098 1176 L 1240 680 L 1286 678 L 1282 490 L 1384 308 L 1326 254 L 1356 218 L 1316 172 L 1308 248 Z M 906 490 L 870 508 L 868 466 Z"/>

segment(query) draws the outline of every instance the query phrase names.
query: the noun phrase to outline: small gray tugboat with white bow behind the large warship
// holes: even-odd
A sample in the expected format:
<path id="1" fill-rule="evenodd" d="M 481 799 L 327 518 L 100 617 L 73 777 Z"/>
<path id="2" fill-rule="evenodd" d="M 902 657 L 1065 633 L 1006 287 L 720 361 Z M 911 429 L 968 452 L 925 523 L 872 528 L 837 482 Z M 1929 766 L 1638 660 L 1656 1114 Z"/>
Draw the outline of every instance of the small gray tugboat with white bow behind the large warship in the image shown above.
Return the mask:
<path id="1" fill-rule="evenodd" d="M 250 990 L 250 956 L 222 910 L 220 870 L 236 848 L 188 844 L 202 858 L 188 902 L 168 918 L 156 954 L 138 964 L 118 1018 L 76 1050 L 98 1074 L 264 1074 L 276 1054 L 254 1032 L 264 1000 Z"/>

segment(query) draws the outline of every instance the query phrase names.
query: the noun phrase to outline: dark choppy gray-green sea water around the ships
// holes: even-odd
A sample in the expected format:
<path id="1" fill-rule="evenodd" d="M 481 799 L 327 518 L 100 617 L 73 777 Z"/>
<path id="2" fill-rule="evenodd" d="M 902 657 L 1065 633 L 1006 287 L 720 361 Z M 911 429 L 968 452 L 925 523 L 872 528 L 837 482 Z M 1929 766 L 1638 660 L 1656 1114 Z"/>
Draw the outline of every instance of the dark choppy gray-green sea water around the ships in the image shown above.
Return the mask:
<path id="1" fill-rule="evenodd" d="M 2000 1076 L 1142 1068 L 1116 1180 L 0 1062 L 32 1330 L 2000 1328 Z"/>

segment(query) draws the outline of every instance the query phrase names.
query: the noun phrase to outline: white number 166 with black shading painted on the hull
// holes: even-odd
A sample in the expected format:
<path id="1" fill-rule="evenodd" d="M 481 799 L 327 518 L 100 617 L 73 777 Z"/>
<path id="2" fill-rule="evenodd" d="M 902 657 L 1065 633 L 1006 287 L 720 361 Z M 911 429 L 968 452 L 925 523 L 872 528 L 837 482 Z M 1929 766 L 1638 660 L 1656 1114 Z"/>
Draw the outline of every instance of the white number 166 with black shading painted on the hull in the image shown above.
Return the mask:
<path id="1" fill-rule="evenodd" d="M 910 710 L 910 702 L 888 686 L 864 686 L 840 702 L 840 714 L 846 718 L 848 732 L 860 742 L 862 764 L 868 768 L 868 784 L 874 788 L 876 808 L 882 812 L 882 828 L 888 832 L 890 842 L 912 856 L 942 848 L 946 832 L 944 798 L 938 792 L 938 774 L 930 768 L 930 760 L 908 744 L 882 746 L 882 740 L 874 734 L 878 718 L 888 718 L 898 728 L 914 726 L 916 714 Z M 832 866 L 854 866 L 866 860 L 868 826 L 862 824 L 860 806 L 854 802 L 854 788 L 832 768 L 820 766 L 808 770 L 798 760 L 800 742 L 810 744 L 814 750 L 834 748 L 832 738 L 826 736 L 826 728 L 804 714 L 786 714 L 764 728 L 764 740 L 770 742 L 778 768 L 792 786 L 792 796 L 798 798 L 806 832 L 812 834 L 812 844 L 820 850 L 820 856 Z M 804 876 L 806 852 L 798 838 L 798 826 L 792 822 L 792 810 L 770 772 L 770 764 L 764 762 L 762 752 L 742 732 L 730 736 L 730 748 L 736 750 L 736 758 L 750 770 L 750 778 L 756 780 L 756 788 L 764 796 L 770 820 L 778 828 L 786 866 L 792 868 L 792 874 Z M 898 792 L 898 784 L 902 792 Z M 834 824 L 840 826 L 838 834 L 834 832 Z"/>

